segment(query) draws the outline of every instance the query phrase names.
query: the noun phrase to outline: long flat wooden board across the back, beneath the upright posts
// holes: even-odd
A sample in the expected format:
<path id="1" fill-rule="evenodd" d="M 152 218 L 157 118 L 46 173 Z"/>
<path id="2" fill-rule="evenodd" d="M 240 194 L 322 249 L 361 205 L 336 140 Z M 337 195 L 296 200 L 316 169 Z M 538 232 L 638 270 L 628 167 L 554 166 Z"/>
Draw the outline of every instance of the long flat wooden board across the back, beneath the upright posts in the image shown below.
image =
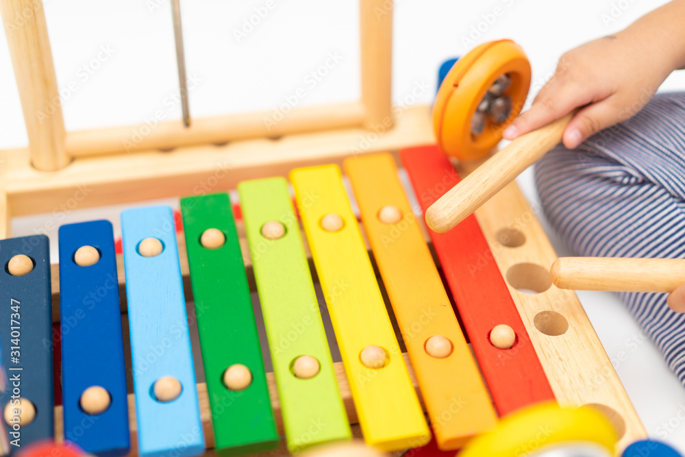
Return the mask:
<path id="1" fill-rule="evenodd" d="M 360 153 L 434 143 L 429 107 L 396 110 L 395 127 L 338 129 L 269 140 L 77 158 L 53 173 L 29 164 L 27 149 L 0 151 L 14 217 L 236 188 L 240 181 L 286 176 L 297 166 L 337 163 Z M 8 221 L 0 221 L 7 224 Z"/>

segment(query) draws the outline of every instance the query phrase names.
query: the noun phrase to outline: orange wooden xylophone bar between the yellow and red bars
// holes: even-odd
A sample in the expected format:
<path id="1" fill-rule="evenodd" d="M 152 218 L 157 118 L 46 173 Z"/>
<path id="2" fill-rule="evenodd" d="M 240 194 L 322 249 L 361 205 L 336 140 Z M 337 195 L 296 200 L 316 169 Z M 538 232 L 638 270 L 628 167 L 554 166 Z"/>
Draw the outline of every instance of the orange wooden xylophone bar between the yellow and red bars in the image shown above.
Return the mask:
<path id="1" fill-rule="evenodd" d="M 440 449 L 458 449 L 497 415 L 390 154 L 343 163 Z"/>

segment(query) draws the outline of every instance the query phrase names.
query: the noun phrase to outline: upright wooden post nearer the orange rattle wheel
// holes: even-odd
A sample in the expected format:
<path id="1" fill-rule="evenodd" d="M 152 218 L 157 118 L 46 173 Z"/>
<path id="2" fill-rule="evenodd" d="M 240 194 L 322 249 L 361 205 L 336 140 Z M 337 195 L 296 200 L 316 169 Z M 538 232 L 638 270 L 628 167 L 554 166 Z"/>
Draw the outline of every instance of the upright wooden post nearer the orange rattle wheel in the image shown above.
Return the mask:
<path id="1" fill-rule="evenodd" d="M 393 127 L 393 0 L 360 0 L 362 103 L 366 127 Z"/>

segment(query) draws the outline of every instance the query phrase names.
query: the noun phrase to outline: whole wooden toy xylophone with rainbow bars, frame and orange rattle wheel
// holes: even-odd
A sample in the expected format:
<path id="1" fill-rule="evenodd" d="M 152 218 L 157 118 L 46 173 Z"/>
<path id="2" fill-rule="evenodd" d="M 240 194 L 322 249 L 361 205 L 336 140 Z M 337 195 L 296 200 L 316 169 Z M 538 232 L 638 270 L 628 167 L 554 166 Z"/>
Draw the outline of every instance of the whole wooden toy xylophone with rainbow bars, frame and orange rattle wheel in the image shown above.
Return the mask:
<path id="1" fill-rule="evenodd" d="M 577 297 L 552 284 L 556 255 L 516 184 L 449 233 L 420 216 L 469 171 L 440 147 L 487 153 L 520 110 L 530 66 L 512 42 L 466 56 L 460 84 L 448 75 L 469 108 L 438 120 L 470 126 L 461 143 L 434 134 L 427 107 L 393 115 L 392 8 L 361 0 L 360 102 L 299 108 L 271 131 L 260 113 L 160 123 L 131 148 L 123 140 L 135 127 L 64 131 L 42 5 L 0 7 L 29 134 L 29 148 L 0 157 L 1 360 L 10 382 L 13 371 L 23 377 L 18 393 L 0 395 L 10 439 L 66 438 L 102 456 L 288 455 L 351 436 L 397 453 L 433 439 L 426 452 L 458 449 L 498 418 L 554 401 L 608 418 L 605 453 L 645 436 Z M 7 26 L 18 17 L 21 27 Z M 55 113 L 36 119 L 46 103 Z M 238 190 L 241 218 L 227 189 Z M 12 217 L 177 195 L 188 195 L 183 236 L 171 208 L 131 208 L 121 214 L 123 256 L 107 221 L 62 225 L 51 269 L 45 236 L 8 238 Z M 201 354 L 190 347 L 188 301 Z M 70 329 L 54 410 L 51 316 Z"/>

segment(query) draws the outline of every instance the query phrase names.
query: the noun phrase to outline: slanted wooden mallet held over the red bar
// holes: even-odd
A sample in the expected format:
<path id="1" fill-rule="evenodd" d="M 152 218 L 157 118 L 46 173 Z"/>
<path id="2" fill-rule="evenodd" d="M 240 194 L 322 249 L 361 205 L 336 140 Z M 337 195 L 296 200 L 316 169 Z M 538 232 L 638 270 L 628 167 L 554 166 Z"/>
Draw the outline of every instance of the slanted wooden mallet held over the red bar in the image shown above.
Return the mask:
<path id="1" fill-rule="evenodd" d="M 495 153 L 426 211 L 426 223 L 445 233 L 466 219 L 501 188 L 557 145 L 575 111 L 544 127 L 523 134 Z"/>

